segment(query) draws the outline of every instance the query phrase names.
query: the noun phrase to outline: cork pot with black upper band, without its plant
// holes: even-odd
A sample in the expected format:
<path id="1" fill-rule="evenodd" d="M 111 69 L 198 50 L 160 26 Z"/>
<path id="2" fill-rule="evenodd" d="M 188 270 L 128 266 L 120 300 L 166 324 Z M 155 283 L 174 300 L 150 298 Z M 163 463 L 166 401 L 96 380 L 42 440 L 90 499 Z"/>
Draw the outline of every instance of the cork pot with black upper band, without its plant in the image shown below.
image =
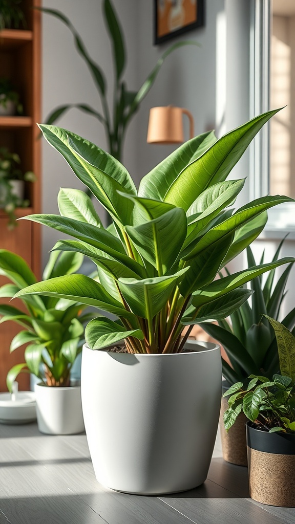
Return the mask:
<path id="1" fill-rule="evenodd" d="M 250 497 L 294 508 L 295 433 L 268 433 L 250 424 L 246 424 Z"/>

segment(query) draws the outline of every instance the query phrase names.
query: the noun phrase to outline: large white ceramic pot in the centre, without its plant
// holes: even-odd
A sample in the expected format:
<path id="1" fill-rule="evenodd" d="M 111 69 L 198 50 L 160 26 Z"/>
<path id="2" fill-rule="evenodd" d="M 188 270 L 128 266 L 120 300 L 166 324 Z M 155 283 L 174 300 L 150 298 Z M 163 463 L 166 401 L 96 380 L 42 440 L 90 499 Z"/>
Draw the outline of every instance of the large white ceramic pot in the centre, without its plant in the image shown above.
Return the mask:
<path id="1" fill-rule="evenodd" d="M 133 355 L 83 346 L 83 417 L 104 486 L 155 495 L 205 481 L 220 411 L 220 348 L 187 346 L 197 351 Z"/>

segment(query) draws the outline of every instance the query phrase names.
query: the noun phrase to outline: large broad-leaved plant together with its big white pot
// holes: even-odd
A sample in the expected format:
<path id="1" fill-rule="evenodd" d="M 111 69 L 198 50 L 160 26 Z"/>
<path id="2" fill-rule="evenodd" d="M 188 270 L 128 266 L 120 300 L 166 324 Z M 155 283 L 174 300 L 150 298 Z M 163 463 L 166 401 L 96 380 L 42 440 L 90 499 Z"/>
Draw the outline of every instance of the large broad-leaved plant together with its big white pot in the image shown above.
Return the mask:
<path id="1" fill-rule="evenodd" d="M 155 494 L 205 481 L 222 370 L 215 345 L 196 344 L 193 351 L 186 345 L 189 330 L 197 322 L 225 318 L 251 294 L 240 286 L 293 261 L 284 258 L 213 281 L 224 258 L 235 257 L 259 234 L 261 213 L 291 200 L 266 196 L 234 214 L 226 209 L 244 185 L 226 181 L 227 175 L 274 113 L 219 140 L 213 132 L 189 140 L 142 179 L 138 192 L 108 153 L 65 129 L 40 126 L 113 219 L 104 229 L 86 194 L 61 189 L 60 215 L 27 218 L 75 237 L 54 249 L 88 256 L 99 282 L 83 277 L 79 284 L 79 276 L 69 275 L 16 294 L 77 300 L 116 315 L 117 320 L 87 325 L 82 353 L 87 439 L 97 479 L 106 486 Z M 236 241 L 240 228 L 244 234 Z M 186 324 L 191 327 L 183 337 Z M 125 352 L 111 350 L 123 340 Z"/>

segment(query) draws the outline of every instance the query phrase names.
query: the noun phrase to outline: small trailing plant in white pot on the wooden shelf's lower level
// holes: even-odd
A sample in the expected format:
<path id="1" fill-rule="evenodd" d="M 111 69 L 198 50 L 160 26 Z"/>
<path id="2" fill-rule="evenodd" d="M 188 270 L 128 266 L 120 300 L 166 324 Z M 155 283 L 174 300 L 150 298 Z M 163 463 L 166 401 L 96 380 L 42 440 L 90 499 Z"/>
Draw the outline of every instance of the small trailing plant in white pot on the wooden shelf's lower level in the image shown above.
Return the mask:
<path id="1" fill-rule="evenodd" d="M 19 168 L 20 158 L 17 153 L 10 153 L 6 147 L 0 147 L 0 208 L 9 217 L 8 228 L 16 226 L 16 208 L 27 208 L 30 201 L 25 198 L 25 182 L 35 182 L 33 171 Z"/>

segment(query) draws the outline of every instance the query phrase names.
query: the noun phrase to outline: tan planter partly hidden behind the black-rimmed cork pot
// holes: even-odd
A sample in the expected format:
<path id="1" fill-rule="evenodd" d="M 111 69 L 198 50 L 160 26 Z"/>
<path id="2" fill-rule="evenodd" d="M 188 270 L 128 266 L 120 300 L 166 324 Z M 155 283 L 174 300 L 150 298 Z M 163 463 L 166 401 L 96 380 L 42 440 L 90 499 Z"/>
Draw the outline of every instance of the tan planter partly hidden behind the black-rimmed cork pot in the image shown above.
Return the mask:
<path id="1" fill-rule="evenodd" d="M 223 387 L 224 394 L 228 388 Z M 222 441 L 222 453 L 225 461 L 238 466 L 247 466 L 247 444 L 245 424 L 247 418 L 243 412 L 239 414 L 234 425 L 228 430 L 224 429 L 223 416 L 228 408 L 227 397 L 222 398 L 220 409 L 219 426 Z"/>

